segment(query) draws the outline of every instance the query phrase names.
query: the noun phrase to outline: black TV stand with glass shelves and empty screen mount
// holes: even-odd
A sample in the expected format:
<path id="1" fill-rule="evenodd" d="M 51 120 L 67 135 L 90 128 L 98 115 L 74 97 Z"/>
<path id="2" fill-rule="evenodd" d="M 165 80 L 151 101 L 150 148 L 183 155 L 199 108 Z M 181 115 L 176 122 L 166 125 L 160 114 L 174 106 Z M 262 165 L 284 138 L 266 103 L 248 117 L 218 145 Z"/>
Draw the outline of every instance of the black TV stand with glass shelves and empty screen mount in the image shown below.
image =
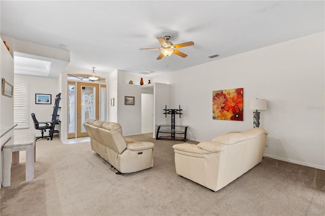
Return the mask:
<path id="1" fill-rule="evenodd" d="M 179 109 L 167 109 L 167 105 L 165 105 L 165 118 L 167 118 L 167 114 L 172 115 L 171 118 L 171 125 L 157 125 L 157 133 L 156 133 L 156 139 L 175 139 L 175 140 L 183 140 L 186 141 L 186 132 L 187 127 L 185 125 L 175 125 L 175 115 L 179 115 L 179 118 L 181 118 L 182 110 L 181 105 L 179 105 Z M 159 133 L 163 134 L 170 134 L 168 136 L 160 135 Z M 175 136 L 175 134 L 184 134 Z"/>

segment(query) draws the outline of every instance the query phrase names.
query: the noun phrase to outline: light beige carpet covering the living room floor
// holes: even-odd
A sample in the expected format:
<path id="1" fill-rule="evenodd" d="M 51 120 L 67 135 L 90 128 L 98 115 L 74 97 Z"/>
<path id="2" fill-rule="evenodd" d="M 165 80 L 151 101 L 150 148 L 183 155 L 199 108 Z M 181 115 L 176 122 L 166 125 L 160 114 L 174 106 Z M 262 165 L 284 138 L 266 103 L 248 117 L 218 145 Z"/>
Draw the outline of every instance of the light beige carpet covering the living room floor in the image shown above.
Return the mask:
<path id="1" fill-rule="evenodd" d="M 181 141 L 151 137 L 128 138 L 155 143 L 154 167 L 124 176 L 89 142 L 37 141 L 35 179 L 24 182 L 21 152 L 1 215 L 325 215 L 324 170 L 264 158 L 212 192 L 176 174 L 172 146 Z"/>

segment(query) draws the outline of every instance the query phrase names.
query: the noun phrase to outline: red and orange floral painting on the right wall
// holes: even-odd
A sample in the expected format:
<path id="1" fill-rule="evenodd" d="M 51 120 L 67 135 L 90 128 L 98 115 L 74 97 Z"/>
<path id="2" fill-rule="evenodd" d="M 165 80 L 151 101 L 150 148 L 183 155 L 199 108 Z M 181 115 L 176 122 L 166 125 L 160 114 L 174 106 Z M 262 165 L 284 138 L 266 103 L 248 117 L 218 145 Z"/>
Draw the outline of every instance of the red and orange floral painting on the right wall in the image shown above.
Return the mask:
<path id="1" fill-rule="evenodd" d="M 243 121 L 243 88 L 212 91 L 212 119 Z"/>

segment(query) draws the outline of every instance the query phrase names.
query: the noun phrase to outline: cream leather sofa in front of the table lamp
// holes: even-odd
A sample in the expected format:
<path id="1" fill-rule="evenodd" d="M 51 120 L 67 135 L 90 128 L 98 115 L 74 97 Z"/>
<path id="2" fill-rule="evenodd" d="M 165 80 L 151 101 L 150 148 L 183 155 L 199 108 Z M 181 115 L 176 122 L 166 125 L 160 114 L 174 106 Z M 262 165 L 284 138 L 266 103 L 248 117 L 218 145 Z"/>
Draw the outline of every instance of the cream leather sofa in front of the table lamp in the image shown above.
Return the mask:
<path id="1" fill-rule="evenodd" d="M 218 191 L 262 161 L 268 132 L 230 132 L 198 145 L 173 146 L 176 173 Z"/>

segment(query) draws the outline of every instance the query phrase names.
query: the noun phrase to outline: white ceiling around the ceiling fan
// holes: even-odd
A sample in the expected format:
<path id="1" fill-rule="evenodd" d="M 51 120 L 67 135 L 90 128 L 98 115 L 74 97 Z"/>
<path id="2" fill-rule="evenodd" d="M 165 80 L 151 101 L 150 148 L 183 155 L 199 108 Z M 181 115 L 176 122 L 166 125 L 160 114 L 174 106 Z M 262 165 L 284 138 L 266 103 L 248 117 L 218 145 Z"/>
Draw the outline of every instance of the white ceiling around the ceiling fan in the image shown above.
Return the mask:
<path id="1" fill-rule="evenodd" d="M 71 52 L 66 69 L 149 77 L 324 31 L 324 1 L 0 1 L 1 34 Z M 174 44 L 156 60 L 159 33 Z M 211 55 L 216 58 L 208 58 Z"/>

